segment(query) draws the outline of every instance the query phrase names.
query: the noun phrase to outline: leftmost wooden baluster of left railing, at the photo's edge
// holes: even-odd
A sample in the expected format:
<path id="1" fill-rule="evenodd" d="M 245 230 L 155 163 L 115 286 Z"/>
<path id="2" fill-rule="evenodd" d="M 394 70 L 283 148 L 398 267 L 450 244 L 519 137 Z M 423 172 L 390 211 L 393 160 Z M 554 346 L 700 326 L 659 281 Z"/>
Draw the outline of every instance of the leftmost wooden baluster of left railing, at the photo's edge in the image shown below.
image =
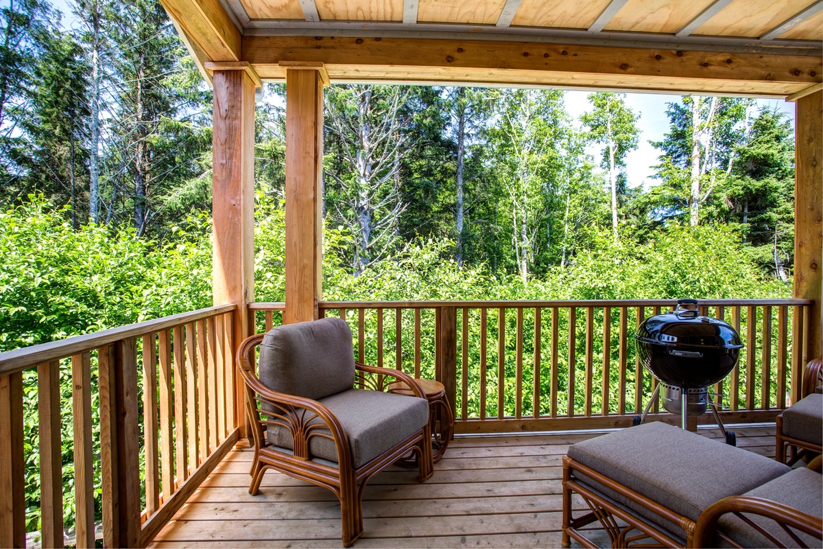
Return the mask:
<path id="1" fill-rule="evenodd" d="M 26 547 L 23 375 L 0 375 L 0 547 Z"/>

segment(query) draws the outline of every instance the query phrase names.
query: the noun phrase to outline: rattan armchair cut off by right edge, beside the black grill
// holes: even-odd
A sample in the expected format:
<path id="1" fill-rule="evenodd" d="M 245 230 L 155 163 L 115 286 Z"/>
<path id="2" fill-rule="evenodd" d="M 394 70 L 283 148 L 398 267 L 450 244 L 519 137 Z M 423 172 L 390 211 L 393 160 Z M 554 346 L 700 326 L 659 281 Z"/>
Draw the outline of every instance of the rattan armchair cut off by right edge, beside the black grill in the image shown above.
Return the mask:
<path id="1" fill-rule="evenodd" d="M 775 458 L 793 465 L 804 456 L 823 452 L 823 358 L 803 370 L 802 398 L 777 416 Z"/>

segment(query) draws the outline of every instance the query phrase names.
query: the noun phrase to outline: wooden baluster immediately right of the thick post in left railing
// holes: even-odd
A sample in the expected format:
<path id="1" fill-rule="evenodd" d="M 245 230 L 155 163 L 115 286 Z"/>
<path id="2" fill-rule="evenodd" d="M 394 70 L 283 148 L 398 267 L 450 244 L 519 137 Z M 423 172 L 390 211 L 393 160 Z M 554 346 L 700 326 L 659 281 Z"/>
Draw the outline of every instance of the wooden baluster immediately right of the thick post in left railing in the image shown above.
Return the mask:
<path id="1" fill-rule="evenodd" d="M 160 507 L 157 459 L 157 356 L 154 334 L 143 336 L 143 444 L 146 454 L 146 514 Z"/>

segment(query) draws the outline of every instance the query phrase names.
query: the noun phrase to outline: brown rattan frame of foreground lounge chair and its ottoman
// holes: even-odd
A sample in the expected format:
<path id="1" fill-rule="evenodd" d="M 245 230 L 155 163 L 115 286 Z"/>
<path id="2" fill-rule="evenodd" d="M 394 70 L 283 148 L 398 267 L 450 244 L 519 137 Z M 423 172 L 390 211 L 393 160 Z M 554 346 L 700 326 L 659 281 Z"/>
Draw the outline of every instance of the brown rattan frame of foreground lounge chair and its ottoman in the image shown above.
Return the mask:
<path id="1" fill-rule="evenodd" d="M 809 464 L 809 468 L 820 472 L 821 460 L 816 459 Z M 670 533 L 667 533 L 662 528 L 650 524 L 644 518 L 640 518 L 634 510 L 607 500 L 601 494 L 591 490 L 584 483 L 578 482 L 574 477 L 575 472 L 579 472 L 593 479 L 593 481 L 599 482 L 602 486 L 607 486 L 612 491 L 623 495 L 625 498 L 642 505 L 653 513 L 658 514 L 661 518 L 667 519 L 669 522 L 677 525 L 681 530 L 681 532 L 679 532 L 681 537 L 686 540 L 686 545 L 683 545 L 679 540 L 673 538 Z M 578 517 L 573 516 L 571 505 L 573 494 L 579 495 L 586 505 L 588 505 L 590 509 L 588 513 Z M 694 520 L 678 514 L 672 511 L 672 509 L 668 509 L 636 491 L 630 490 L 602 473 L 574 461 L 574 459 L 569 456 L 563 456 L 563 534 L 561 539 L 563 547 L 569 547 L 571 539 L 579 542 L 583 547 L 597 547 L 585 536 L 585 533 L 579 529 L 595 521 L 599 521 L 608 534 L 611 539 L 611 547 L 717 547 L 715 535 L 719 535 L 726 542 L 731 543 L 732 547 L 740 547 L 717 530 L 718 519 L 727 513 L 734 513 L 737 514 L 737 516 L 741 516 L 742 514 L 755 514 L 774 520 L 779 528 L 789 533 L 789 536 L 793 536 L 794 531 L 800 531 L 823 539 L 821 519 L 811 514 L 802 513 L 786 505 L 775 503 L 774 501 L 742 495 L 723 498 L 723 500 L 709 505 L 709 507 L 704 509 L 703 513 L 700 514 L 700 517 L 695 523 Z M 621 526 L 617 522 L 617 519 L 621 519 L 627 526 Z M 751 524 L 751 521 L 748 520 L 747 517 L 742 516 L 742 519 Z M 784 547 L 778 540 L 774 539 L 770 533 L 760 528 L 760 526 L 754 525 L 753 528 L 756 528 L 760 533 L 764 533 L 766 537 L 772 539 L 776 547 Z M 639 534 L 635 533 L 635 535 L 630 536 L 633 530 L 637 530 Z M 650 544 L 648 540 L 649 537 L 651 537 L 654 542 L 657 542 L 659 546 Z M 805 547 L 802 542 L 796 539 L 796 536 L 793 537 L 797 542 L 797 545 L 794 547 Z"/>

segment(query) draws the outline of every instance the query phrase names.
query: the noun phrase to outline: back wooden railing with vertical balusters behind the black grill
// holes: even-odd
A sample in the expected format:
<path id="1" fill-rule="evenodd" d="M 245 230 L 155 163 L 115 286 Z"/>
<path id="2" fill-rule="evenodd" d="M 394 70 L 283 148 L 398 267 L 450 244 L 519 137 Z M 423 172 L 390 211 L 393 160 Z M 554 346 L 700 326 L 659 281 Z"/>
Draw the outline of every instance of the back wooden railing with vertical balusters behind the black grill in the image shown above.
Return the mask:
<path id="1" fill-rule="evenodd" d="M 491 433 L 630 426 L 656 386 L 639 364 L 633 334 L 645 318 L 675 303 L 326 301 L 319 309 L 351 325 L 360 361 L 443 383 L 456 432 Z M 745 345 L 732 374 L 714 387 L 724 421 L 774 421 L 797 400 L 802 365 L 811 358 L 803 356 L 810 305 L 700 301 L 702 314 L 731 323 Z M 281 322 L 281 303 L 249 309 L 257 314 L 257 331 Z M 660 412 L 657 402 L 652 412 Z"/>

